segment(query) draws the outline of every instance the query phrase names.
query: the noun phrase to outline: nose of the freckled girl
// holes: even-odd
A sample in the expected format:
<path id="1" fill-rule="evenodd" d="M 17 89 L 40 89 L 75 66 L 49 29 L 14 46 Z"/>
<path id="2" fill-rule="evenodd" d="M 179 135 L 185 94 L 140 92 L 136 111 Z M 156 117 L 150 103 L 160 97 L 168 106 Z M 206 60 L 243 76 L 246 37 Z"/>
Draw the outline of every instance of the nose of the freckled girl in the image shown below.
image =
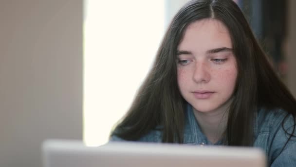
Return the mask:
<path id="1" fill-rule="evenodd" d="M 206 63 L 195 63 L 193 81 L 196 83 L 208 83 L 211 79 L 210 69 Z"/>

